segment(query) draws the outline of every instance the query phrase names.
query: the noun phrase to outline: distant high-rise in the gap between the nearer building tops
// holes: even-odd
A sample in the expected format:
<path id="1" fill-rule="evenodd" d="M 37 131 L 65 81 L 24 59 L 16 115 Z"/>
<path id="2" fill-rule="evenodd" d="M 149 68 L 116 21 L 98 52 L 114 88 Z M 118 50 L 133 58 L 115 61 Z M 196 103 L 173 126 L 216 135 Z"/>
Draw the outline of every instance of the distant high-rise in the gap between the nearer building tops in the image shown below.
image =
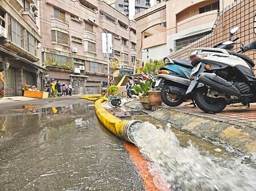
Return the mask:
<path id="1" fill-rule="evenodd" d="M 113 5 L 112 1 L 106 1 Z M 135 14 L 155 6 L 160 2 L 163 2 L 163 0 L 115 0 L 114 6 L 115 9 L 129 16 L 129 19 L 134 19 Z"/>

